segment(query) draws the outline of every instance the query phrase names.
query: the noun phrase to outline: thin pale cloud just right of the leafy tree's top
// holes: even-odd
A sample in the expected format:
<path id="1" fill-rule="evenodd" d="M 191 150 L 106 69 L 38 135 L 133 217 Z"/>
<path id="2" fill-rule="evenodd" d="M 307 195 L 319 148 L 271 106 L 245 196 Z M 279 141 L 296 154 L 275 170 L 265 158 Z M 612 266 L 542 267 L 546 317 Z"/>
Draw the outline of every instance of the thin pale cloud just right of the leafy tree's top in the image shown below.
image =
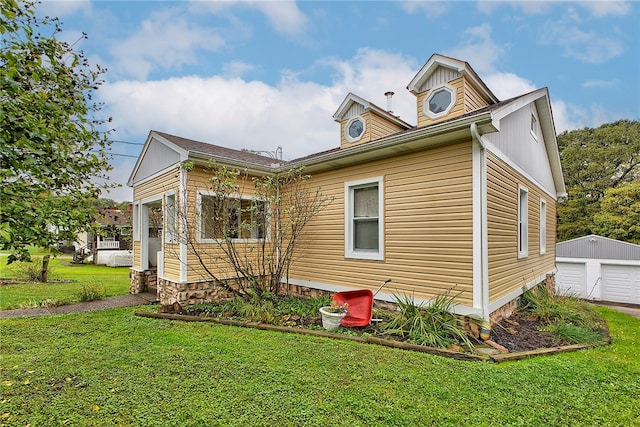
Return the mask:
<path id="1" fill-rule="evenodd" d="M 214 30 L 194 26 L 175 10 L 165 9 L 140 24 L 139 30 L 110 47 L 116 58 L 111 69 L 118 74 L 145 79 L 155 69 L 179 69 L 197 62 L 199 50 L 215 51 L 224 45 Z"/>

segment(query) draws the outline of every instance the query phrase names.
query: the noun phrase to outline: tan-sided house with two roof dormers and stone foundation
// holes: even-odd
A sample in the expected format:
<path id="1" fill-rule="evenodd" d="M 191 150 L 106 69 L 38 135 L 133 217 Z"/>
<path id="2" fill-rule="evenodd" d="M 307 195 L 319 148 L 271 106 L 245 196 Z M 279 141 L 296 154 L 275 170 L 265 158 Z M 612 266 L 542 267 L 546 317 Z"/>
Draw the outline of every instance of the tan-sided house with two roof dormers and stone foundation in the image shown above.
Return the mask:
<path id="1" fill-rule="evenodd" d="M 556 203 L 565 187 L 549 93 L 500 101 L 468 63 L 442 55 L 407 89 L 416 125 L 350 93 L 333 116 L 336 148 L 292 161 L 151 131 L 129 179 L 132 292 L 154 289 L 162 304 L 216 297 L 180 239 L 186 230 L 175 227 L 175 212 L 190 205 L 197 228 L 214 162 L 251 176 L 304 166 L 312 187 L 331 198 L 305 228 L 286 279 L 291 288 L 376 291 L 390 278 L 376 299 L 404 294 L 428 303 L 451 292 L 457 313 L 485 320 L 513 308 L 523 288 L 555 270 Z M 165 227 L 153 236 L 152 213 Z M 207 265 L 232 279 L 223 264 L 212 257 Z"/>

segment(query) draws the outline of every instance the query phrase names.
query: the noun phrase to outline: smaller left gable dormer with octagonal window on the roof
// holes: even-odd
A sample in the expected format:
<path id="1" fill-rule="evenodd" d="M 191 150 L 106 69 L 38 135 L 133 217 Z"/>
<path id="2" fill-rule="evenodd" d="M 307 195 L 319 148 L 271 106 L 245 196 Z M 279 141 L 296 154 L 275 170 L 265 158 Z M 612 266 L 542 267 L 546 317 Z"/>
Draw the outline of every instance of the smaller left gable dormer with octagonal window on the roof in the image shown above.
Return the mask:
<path id="1" fill-rule="evenodd" d="M 342 101 L 333 119 L 340 123 L 340 148 L 374 141 L 412 127 L 390 111 L 352 93 Z"/>

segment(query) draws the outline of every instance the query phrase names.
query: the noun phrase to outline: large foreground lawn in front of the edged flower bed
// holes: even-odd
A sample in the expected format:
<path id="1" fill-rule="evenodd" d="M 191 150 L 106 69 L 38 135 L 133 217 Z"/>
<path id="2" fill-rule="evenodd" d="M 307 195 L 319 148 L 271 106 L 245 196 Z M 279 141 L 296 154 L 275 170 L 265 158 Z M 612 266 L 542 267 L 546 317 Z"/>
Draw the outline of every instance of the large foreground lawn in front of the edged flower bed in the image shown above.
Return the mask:
<path id="1" fill-rule="evenodd" d="M 640 425 L 640 320 L 605 307 L 612 345 L 499 365 L 135 310 L 1 320 L 0 424 Z"/>

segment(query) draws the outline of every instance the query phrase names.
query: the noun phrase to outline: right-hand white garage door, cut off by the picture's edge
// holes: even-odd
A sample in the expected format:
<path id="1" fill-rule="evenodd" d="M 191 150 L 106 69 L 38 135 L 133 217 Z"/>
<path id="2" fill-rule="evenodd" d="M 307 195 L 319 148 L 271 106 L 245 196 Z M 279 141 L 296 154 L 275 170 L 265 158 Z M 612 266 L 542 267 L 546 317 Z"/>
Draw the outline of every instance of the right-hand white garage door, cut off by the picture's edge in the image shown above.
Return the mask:
<path id="1" fill-rule="evenodd" d="M 602 299 L 640 304 L 640 267 L 602 264 Z"/>

